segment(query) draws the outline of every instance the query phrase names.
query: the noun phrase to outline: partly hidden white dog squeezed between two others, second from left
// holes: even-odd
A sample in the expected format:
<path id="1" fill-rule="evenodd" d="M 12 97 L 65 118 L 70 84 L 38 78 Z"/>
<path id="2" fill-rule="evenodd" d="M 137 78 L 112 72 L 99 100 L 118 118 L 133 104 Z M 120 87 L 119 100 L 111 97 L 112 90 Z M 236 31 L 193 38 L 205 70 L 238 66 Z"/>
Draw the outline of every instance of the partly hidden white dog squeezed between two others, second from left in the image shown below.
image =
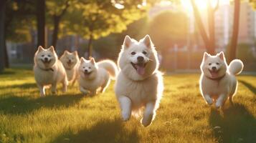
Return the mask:
<path id="1" fill-rule="evenodd" d="M 64 54 L 60 56 L 60 61 L 62 61 L 62 64 L 65 67 L 68 81 L 74 85 L 78 77 L 77 72 L 80 64 L 77 51 L 73 51 L 72 53 L 64 51 Z"/>

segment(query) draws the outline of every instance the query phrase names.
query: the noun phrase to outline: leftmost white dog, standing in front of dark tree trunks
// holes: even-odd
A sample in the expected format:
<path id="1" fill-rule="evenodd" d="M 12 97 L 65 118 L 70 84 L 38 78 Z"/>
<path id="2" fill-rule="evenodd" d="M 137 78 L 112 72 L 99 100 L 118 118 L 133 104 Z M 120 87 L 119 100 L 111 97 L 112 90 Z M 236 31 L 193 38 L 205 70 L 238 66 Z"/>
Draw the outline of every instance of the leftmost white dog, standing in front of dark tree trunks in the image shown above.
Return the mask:
<path id="1" fill-rule="evenodd" d="M 45 59 L 48 59 L 48 62 L 44 62 Z M 45 96 L 45 88 L 49 85 L 52 86 L 52 94 L 55 94 L 59 82 L 63 84 L 62 91 L 67 91 L 67 74 L 53 46 L 50 46 L 49 49 L 38 47 L 34 54 L 34 78 L 40 89 L 41 97 Z"/>

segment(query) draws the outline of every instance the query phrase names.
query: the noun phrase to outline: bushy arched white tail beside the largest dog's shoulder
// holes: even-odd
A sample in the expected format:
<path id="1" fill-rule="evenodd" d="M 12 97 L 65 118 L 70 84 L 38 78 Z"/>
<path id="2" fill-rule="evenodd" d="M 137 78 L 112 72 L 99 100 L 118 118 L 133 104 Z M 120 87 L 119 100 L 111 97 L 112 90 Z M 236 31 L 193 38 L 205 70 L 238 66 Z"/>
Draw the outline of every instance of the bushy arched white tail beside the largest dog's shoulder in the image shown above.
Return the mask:
<path id="1" fill-rule="evenodd" d="M 116 66 L 114 61 L 111 61 L 109 59 L 105 59 L 103 61 L 99 61 L 98 66 L 107 70 L 110 74 L 111 79 L 115 79 L 115 77 L 118 74 L 118 66 Z"/>

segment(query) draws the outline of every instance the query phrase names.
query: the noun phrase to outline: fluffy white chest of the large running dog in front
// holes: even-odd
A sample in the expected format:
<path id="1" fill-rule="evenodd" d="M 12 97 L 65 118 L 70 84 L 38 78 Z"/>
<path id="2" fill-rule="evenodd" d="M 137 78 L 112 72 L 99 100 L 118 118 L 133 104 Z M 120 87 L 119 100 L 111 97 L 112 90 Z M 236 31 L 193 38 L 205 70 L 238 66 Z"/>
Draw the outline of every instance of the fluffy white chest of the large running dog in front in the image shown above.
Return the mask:
<path id="1" fill-rule="evenodd" d="M 120 72 L 115 84 L 116 96 L 131 99 L 133 105 L 141 106 L 158 98 L 158 75 L 154 74 L 143 81 L 133 81 Z"/>

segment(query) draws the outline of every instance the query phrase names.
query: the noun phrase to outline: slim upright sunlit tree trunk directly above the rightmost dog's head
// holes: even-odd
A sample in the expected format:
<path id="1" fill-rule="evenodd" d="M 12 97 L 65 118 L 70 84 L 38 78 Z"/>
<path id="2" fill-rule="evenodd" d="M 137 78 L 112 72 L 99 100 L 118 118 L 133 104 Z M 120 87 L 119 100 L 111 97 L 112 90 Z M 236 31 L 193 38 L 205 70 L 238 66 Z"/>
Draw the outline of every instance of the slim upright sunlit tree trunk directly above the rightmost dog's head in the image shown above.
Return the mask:
<path id="1" fill-rule="evenodd" d="M 210 4 L 210 1 L 208 0 L 208 28 L 209 28 L 209 51 L 211 51 L 210 54 L 215 54 L 215 27 L 214 27 L 214 9 L 212 9 L 212 6 Z"/>

